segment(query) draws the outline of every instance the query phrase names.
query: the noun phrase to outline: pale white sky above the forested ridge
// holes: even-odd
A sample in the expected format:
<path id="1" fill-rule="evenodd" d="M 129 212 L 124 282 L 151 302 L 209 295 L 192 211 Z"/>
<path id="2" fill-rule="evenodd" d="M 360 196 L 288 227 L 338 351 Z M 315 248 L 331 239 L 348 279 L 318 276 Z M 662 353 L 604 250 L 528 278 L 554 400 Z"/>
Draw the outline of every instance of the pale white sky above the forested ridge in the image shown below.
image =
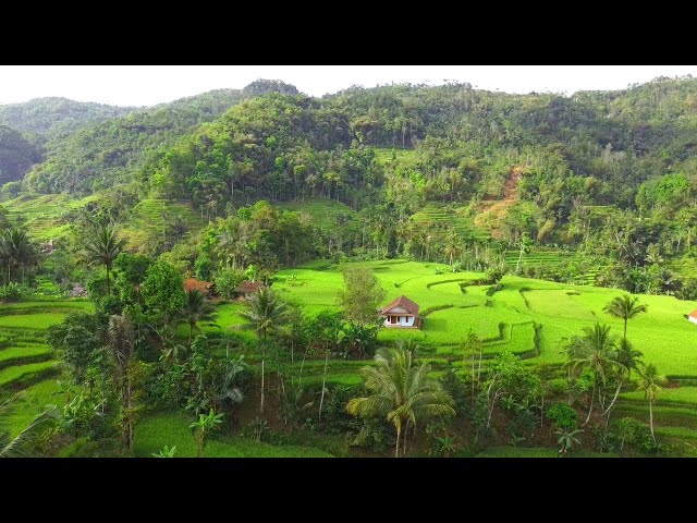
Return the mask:
<path id="1" fill-rule="evenodd" d="M 211 89 L 282 80 L 311 96 L 352 85 L 469 82 L 505 93 L 623 89 L 657 76 L 697 76 L 697 65 L 0 65 L 0 104 L 45 96 L 152 106 Z"/>

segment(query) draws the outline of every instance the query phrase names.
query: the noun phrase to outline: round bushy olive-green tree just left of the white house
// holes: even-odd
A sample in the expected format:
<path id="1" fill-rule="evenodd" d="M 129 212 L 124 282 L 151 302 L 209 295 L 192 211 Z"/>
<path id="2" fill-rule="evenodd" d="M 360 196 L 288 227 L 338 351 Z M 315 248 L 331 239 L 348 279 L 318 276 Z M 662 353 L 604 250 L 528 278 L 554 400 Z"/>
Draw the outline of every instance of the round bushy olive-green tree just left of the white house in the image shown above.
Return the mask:
<path id="1" fill-rule="evenodd" d="M 360 325 L 378 319 L 378 307 L 384 300 L 384 290 L 372 271 L 364 267 L 343 270 L 345 289 L 339 291 L 339 302 L 348 321 Z"/>

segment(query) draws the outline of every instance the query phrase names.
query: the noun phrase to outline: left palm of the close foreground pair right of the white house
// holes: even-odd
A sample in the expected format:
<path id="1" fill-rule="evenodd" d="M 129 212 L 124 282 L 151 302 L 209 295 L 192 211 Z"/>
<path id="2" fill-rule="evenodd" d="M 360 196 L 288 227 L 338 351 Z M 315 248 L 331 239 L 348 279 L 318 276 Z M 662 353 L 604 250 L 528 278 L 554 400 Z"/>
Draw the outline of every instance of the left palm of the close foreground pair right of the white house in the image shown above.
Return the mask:
<path id="1" fill-rule="evenodd" d="M 585 425 L 590 421 L 598 385 L 604 387 L 608 379 L 615 374 L 616 369 L 623 369 L 625 367 L 617 361 L 616 341 L 614 337 L 610 335 L 610 326 L 608 325 L 596 324 L 592 329 L 589 327 L 584 328 L 584 336 L 575 337 L 572 340 L 567 348 L 567 354 L 570 360 L 566 362 L 566 365 L 572 372 L 580 367 L 582 369 L 589 369 L 594 375 L 590 409 L 588 410 Z M 622 382 L 620 381 L 620 387 L 621 386 Z M 619 390 L 617 388 L 617 392 Z M 599 400 L 601 400 L 600 391 L 598 392 Z M 616 398 L 617 394 L 615 394 L 610 406 L 614 404 Z M 609 412 L 609 410 L 606 412 Z"/>

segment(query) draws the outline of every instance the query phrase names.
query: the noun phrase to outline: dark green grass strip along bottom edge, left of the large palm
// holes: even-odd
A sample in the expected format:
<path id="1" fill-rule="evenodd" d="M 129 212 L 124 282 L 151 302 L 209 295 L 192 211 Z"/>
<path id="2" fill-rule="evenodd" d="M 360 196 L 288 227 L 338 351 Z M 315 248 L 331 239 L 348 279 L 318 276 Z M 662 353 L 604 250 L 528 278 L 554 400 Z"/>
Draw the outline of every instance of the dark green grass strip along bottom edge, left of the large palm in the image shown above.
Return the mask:
<path id="1" fill-rule="evenodd" d="M 178 413 L 143 418 L 135 427 L 134 453 L 149 458 L 164 446 L 176 446 L 178 458 L 196 455 L 196 443 L 188 425 L 192 421 Z M 301 446 L 272 446 L 233 436 L 216 436 L 206 445 L 207 458 L 331 458 L 319 449 Z"/>

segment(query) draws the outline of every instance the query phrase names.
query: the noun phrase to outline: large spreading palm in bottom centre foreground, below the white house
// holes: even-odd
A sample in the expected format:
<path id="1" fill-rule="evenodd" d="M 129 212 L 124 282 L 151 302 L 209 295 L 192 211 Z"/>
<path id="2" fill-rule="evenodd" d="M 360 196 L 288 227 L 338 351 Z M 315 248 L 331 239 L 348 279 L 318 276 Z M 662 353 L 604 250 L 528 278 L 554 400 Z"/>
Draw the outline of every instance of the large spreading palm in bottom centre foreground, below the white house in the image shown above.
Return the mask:
<path id="1" fill-rule="evenodd" d="M 423 418 L 454 416 L 453 400 L 436 379 L 428 377 L 431 366 L 425 363 L 416 366 L 414 354 L 407 349 L 379 349 L 375 362 L 376 366 L 360 369 L 371 396 L 352 399 L 346 412 L 362 417 L 386 416 L 396 428 L 394 457 L 399 458 L 402 431 L 404 455 L 409 424 L 416 428 L 417 421 Z"/>

